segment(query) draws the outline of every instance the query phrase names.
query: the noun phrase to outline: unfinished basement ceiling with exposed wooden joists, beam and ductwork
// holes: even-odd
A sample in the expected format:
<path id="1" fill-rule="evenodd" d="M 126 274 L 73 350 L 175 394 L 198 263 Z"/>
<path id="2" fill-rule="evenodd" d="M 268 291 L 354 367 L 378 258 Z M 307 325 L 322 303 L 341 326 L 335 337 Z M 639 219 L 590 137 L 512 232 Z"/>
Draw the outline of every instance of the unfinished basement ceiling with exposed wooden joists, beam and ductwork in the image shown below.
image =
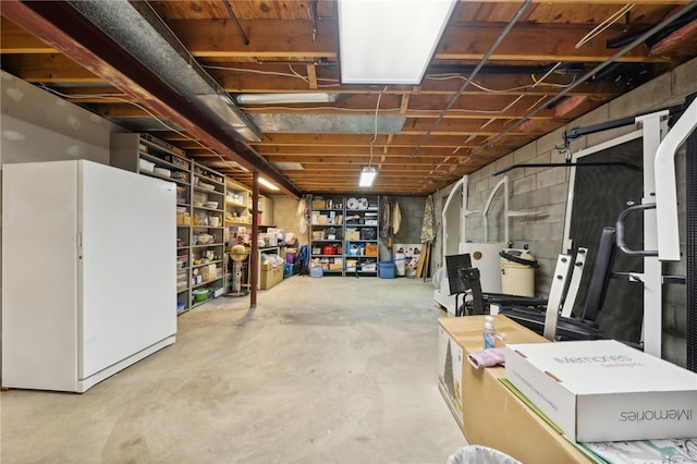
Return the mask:
<path id="1" fill-rule="evenodd" d="M 689 0 L 461 0 L 420 85 L 342 85 L 334 1 L 90 3 L 0 2 L 2 69 L 294 196 L 432 193 L 697 56 Z M 269 93 L 339 98 L 234 102 Z"/>

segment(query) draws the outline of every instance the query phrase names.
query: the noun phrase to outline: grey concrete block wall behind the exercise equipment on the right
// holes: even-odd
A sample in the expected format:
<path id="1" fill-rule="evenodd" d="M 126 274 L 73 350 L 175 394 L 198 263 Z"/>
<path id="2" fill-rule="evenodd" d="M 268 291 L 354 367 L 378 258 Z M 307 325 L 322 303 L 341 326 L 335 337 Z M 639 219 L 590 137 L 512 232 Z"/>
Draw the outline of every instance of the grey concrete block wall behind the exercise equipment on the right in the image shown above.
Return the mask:
<path id="1" fill-rule="evenodd" d="M 590 113 L 578 118 L 566 126 L 533 142 L 515 152 L 497 160 L 468 175 L 468 209 L 482 209 L 485 202 L 501 175 L 492 176 L 496 170 L 515 163 L 560 162 L 565 154 L 555 147 L 562 142 L 562 133 L 576 126 L 606 122 L 663 109 L 684 101 L 697 91 L 697 59 L 662 75 L 633 91 L 616 98 Z M 597 145 L 619 135 L 634 131 L 634 126 L 603 131 L 573 141 L 571 151 Z M 681 213 L 681 246 L 685 239 L 685 168 L 684 149 L 676 158 L 676 176 Z M 540 262 L 536 272 L 536 293 L 547 296 L 551 284 L 557 257 L 562 249 L 566 196 L 570 186 L 570 170 L 563 168 L 524 168 L 510 171 L 510 208 L 512 210 L 541 210 L 542 215 L 512 218 L 511 240 L 515 245 L 528 244 Z M 447 196 L 449 188 L 439 193 L 439 199 Z M 501 202 L 502 204 L 502 202 Z M 442 203 L 441 203 L 442 205 Z M 502 236 L 503 220 L 498 204 L 492 206 L 489 217 L 489 240 Z M 481 240 L 484 229 L 480 222 L 467 220 L 467 240 Z M 681 262 L 665 264 L 664 273 L 685 274 L 684 258 Z M 678 365 L 686 364 L 685 354 L 685 286 L 665 285 L 663 303 L 663 357 Z"/>

